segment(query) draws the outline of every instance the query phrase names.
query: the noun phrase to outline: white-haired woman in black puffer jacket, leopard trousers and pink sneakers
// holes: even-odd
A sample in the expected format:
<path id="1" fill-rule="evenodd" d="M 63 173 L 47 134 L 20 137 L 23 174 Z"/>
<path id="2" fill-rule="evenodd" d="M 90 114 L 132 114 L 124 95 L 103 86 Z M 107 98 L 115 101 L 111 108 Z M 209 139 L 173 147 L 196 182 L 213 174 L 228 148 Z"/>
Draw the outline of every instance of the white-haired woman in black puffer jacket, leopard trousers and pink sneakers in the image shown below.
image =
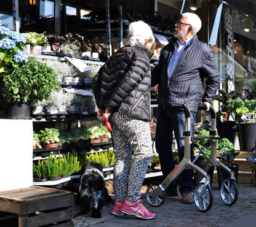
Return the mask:
<path id="1" fill-rule="evenodd" d="M 111 214 L 153 219 L 140 201 L 140 188 L 152 156 L 150 135 L 151 52 L 146 48 L 154 36 L 143 21 L 130 23 L 129 40 L 95 75 L 92 87 L 97 117 L 109 114 L 115 148 L 114 207 Z M 132 161 L 134 154 L 134 161 Z"/>

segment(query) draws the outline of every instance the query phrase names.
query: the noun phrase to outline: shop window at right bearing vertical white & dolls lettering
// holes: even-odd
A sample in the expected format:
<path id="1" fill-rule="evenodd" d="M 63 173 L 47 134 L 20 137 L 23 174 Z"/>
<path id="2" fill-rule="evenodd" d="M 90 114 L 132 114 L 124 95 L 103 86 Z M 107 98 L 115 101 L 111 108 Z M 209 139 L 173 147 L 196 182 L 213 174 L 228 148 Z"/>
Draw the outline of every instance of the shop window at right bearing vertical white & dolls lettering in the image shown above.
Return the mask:
<path id="1" fill-rule="evenodd" d="M 253 18 L 224 6 L 220 45 L 220 89 L 242 92 L 256 79 L 256 24 Z M 252 96 L 250 96 L 252 97 Z"/>

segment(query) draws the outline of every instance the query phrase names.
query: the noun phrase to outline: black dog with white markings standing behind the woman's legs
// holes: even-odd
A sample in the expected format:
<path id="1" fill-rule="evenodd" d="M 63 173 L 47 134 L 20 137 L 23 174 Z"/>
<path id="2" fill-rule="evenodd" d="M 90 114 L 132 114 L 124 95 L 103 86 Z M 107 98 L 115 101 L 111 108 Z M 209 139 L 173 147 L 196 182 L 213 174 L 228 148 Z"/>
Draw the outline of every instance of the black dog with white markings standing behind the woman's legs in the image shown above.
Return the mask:
<path id="1" fill-rule="evenodd" d="M 81 213 L 85 214 L 92 208 L 92 217 L 100 218 L 100 210 L 112 198 L 105 188 L 102 166 L 96 162 L 87 162 L 81 168 L 79 185 Z"/>

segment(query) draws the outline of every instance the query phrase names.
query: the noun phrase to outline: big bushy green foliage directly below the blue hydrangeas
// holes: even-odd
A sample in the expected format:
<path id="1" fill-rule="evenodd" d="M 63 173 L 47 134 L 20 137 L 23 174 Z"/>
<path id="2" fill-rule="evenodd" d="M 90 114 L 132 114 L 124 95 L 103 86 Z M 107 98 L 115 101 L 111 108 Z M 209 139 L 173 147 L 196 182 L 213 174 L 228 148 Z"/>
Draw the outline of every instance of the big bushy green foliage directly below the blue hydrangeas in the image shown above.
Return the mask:
<path id="1" fill-rule="evenodd" d="M 33 102 L 49 99 L 60 84 L 50 67 L 34 58 L 6 74 L 1 83 L 1 94 L 8 102 Z"/>

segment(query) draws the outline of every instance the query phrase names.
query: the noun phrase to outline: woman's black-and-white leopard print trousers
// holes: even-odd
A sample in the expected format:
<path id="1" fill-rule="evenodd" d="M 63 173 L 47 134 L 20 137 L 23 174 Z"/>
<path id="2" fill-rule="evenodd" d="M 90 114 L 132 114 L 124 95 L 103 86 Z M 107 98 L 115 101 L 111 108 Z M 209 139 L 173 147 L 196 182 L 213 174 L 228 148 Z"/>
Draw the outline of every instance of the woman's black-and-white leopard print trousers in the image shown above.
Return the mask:
<path id="1" fill-rule="evenodd" d="M 140 199 L 140 188 L 152 156 L 150 125 L 115 112 L 111 116 L 113 128 L 114 194 L 116 201 Z M 134 160 L 132 161 L 132 155 Z"/>

